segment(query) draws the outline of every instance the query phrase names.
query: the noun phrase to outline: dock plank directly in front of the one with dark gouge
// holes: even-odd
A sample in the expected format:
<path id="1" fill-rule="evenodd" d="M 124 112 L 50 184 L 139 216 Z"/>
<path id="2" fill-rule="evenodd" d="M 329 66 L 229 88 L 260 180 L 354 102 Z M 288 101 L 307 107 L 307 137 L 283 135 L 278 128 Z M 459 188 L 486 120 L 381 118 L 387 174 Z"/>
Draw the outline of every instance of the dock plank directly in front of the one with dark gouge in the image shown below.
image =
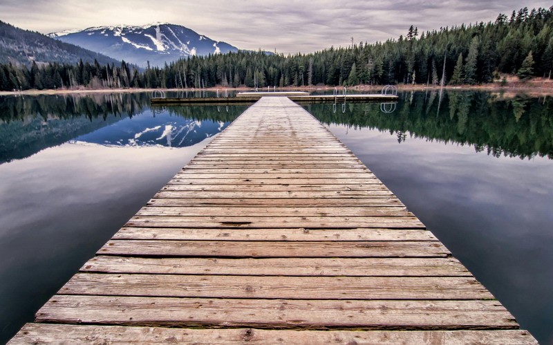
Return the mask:
<path id="1" fill-rule="evenodd" d="M 428 230 L 122 227 L 112 239 L 180 241 L 438 241 Z"/>

